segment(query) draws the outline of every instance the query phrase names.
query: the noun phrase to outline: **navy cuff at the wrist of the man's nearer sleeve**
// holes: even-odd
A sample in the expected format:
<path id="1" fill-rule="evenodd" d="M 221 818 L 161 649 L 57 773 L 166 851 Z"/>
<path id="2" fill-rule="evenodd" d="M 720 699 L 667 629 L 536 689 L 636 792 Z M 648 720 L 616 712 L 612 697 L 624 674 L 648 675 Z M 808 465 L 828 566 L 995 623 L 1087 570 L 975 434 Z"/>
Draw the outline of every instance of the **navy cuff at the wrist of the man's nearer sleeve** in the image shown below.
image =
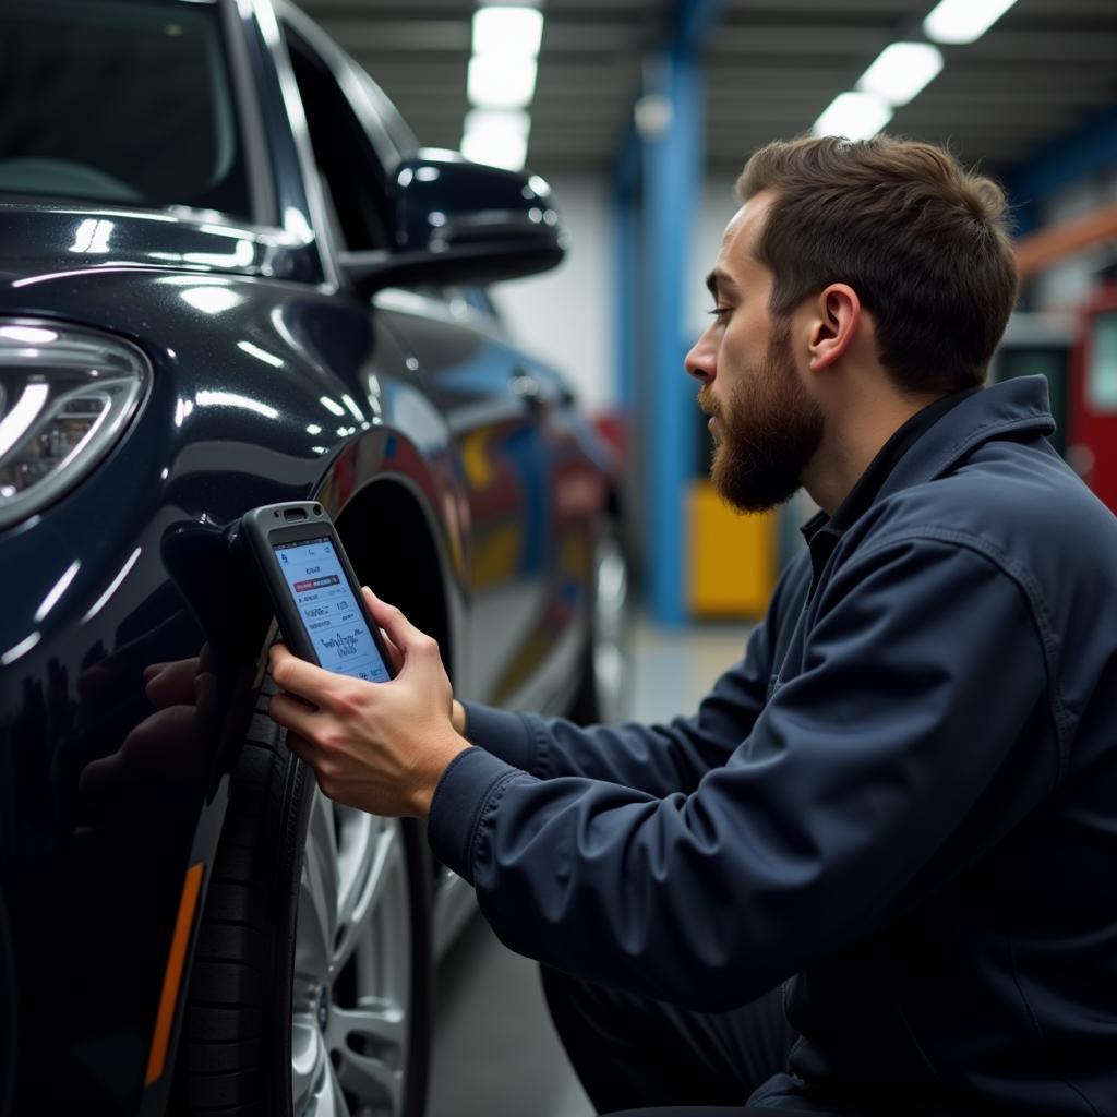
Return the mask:
<path id="1" fill-rule="evenodd" d="M 474 838 L 485 810 L 517 775 L 523 773 L 483 748 L 466 748 L 450 761 L 438 781 L 427 840 L 435 856 L 469 884 L 474 882 Z"/>

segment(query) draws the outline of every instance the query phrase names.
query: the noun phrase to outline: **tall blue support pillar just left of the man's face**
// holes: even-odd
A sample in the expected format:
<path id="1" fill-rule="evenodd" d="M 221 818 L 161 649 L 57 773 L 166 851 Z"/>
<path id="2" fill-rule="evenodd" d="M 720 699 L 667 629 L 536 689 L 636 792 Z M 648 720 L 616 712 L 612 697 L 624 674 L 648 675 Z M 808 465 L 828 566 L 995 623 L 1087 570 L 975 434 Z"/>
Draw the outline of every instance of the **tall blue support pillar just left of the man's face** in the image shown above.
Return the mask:
<path id="1" fill-rule="evenodd" d="M 696 385 L 682 369 L 690 232 L 701 204 L 701 54 L 724 0 L 676 0 L 670 41 L 648 59 L 643 95 L 661 127 L 633 124 L 615 164 L 618 395 L 638 451 L 638 519 L 653 619 L 686 619 L 685 500 L 695 459 Z M 647 124 L 647 122 L 646 122 Z"/>

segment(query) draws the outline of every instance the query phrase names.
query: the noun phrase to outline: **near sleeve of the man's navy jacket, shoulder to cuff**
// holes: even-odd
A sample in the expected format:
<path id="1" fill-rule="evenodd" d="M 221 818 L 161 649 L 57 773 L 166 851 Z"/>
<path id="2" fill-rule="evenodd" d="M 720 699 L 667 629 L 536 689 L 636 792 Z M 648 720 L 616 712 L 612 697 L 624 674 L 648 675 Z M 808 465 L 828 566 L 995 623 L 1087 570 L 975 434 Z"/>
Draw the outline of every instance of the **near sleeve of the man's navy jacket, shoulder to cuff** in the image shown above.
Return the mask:
<path id="1" fill-rule="evenodd" d="M 1046 687 L 1012 576 L 975 547 L 897 541 L 831 581 L 803 670 L 693 793 L 537 780 L 467 750 L 430 840 L 512 949 L 723 1010 L 909 901 Z"/>

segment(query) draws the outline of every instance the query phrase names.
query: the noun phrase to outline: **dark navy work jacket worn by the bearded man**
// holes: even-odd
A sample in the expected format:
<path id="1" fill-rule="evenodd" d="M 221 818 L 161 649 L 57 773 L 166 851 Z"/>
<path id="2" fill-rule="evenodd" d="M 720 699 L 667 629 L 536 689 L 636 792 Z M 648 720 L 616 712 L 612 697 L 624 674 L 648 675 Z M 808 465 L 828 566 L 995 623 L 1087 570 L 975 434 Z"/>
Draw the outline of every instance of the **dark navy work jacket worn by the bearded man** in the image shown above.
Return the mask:
<path id="1" fill-rule="evenodd" d="M 693 718 L 469 707 L 430 840 L 500 939 L 703 1010 L 784 983 L 754 1102 L 1117 1115 L 1117 519 L 1052 429 L 1040 378 L 962 400 Z"/>

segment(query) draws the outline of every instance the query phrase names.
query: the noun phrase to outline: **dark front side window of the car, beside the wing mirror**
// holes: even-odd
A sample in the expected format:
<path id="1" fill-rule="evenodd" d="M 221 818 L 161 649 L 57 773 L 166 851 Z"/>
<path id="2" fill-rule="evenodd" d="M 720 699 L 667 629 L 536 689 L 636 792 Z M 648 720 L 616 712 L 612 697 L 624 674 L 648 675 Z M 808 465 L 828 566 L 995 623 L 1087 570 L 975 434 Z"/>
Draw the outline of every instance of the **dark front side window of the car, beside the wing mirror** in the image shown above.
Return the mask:
<path id="1" fill-rule="evenodd" d="M 292 27 L 284 36 L 335 231 L 352 251 L 384 248 L 384 168 L 326 63 Z"/>

